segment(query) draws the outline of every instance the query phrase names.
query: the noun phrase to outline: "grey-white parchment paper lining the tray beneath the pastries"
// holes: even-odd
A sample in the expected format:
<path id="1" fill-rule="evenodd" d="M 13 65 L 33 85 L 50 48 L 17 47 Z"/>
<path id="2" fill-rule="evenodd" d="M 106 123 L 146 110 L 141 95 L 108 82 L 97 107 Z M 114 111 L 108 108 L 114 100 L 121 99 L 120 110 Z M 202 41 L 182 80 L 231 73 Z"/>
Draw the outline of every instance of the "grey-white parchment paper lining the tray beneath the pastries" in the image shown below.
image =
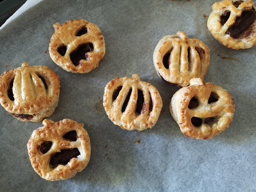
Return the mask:
<path id="1" fill-rule="evenodd" d="M 0 191 L 256 191 L 256 47 L 232 50 L 212 37 L 206 22 L 213 3 L 28 0 L 0 30 L 0 74 L 22 62 L 52 68 L 61 88 L 58 107 L 49 119 L 84 123 L 91 158 L 74 178 L 40 178 L 30 164 L 26 143 L 42 122 L 20 122 L 1 108 Z M 66 72 L 48 52 L 52 25 L 76 18 L 96 24 L 106 43 L 106 55 L 88 74 Z M 230 127 L 208 141 L 182 134 L 169 112 L 178 88 L 163 82 L 154 69 L 156 44 L 177 31 L 210 48 L 204 80 L 228 90 L 236 105 Z M 115 126 L 102 105 L 106 84 L 134 73 L 156 86 L 163 100 L 158 122 L 142 132 Z"/>

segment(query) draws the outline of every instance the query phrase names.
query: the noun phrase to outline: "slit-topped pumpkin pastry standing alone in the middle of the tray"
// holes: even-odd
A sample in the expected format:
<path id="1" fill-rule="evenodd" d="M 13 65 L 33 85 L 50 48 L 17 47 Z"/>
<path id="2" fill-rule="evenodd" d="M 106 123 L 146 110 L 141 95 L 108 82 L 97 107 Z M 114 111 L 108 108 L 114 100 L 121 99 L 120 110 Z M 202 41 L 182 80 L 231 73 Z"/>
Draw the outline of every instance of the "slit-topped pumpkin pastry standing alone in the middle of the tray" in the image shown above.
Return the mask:
<path id="1" fill-rule="evenodd" d="M 103 106 L 115 125 L 141 131 L 156 124 L 162 98 L 154 86 L 133 74 L 132 78 L 115 78 L 106 85 Z"/>

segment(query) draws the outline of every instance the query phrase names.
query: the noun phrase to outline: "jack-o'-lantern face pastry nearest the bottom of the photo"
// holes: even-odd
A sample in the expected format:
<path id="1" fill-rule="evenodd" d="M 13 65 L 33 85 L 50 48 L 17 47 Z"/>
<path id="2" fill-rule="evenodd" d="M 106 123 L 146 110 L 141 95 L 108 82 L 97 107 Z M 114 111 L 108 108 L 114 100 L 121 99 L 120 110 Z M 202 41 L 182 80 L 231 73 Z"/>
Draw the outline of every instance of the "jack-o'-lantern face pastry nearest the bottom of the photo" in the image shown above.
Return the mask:
<path id="1" fill-rule="evenodd" d="M 34 170 L 50 181 L 74 177 L 87 166 L 91 155 L 84 124 L 70 119 L 45 119 L 43 125 L 34 130 L 27 144 Z"/>

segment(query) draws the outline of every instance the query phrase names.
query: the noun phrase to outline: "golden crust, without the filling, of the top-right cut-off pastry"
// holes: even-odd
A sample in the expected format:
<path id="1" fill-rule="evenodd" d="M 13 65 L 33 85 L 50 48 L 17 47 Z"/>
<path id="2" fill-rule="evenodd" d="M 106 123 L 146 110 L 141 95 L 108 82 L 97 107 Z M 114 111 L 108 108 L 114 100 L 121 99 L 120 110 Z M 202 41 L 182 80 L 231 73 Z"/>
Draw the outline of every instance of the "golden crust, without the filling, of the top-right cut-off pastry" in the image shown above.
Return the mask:
<path id="1" fill-rule="evenodd" d="M 251 24 L 248 30 L 243 31 L 238 37 L 233 38 L 226 34 L 228 28 L 232 26 L 237 17 L 242 15 L 243 11 L 256 9 L 252 0 L 244 0 L 238 8 L 233 5 L 236 0 L 223 0 L 212 5 L 212 13 L 210 14 L 207 26 L 212 36 L 221 44 L 235 50 L 251 48 L 256 44 L 256 20 Z M 230 11 L 230 17 L 222 26 L 220 17 L 225 11 Z"/>

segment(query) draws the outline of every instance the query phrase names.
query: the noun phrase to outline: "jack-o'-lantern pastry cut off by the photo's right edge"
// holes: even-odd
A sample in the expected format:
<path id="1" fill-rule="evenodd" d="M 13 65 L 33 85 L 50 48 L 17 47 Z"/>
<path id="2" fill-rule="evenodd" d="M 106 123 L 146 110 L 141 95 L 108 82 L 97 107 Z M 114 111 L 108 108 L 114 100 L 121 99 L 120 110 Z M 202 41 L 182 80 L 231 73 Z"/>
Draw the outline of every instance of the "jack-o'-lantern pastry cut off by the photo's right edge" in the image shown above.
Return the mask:
<path id="1" fill-rule="evenodd" d="M 223 0 L 212 5 L 207 26 L 212 36 L 232 49 L 256 44 L 256 11 L 252 0 Z"/>

